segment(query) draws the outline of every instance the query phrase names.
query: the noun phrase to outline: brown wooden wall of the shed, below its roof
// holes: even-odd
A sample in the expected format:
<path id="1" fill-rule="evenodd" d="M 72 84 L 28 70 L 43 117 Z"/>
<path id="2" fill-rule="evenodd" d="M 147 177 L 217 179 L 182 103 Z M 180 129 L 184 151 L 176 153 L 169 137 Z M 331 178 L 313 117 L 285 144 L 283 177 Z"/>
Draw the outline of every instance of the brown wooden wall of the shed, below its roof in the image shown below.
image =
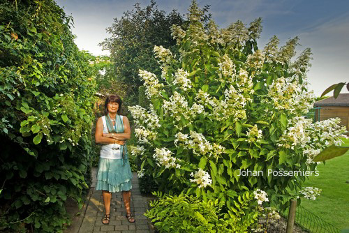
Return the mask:
<path id="1" fill-rule="evenodd" d="M 315 106 L 321 107 L 315 110 L 315 121 L 323 121 L 329 118 L 339 117 L 341 125 L 349 131 L 349 106 Z M 349 135 L 349 133 L 347 134 Z"/>

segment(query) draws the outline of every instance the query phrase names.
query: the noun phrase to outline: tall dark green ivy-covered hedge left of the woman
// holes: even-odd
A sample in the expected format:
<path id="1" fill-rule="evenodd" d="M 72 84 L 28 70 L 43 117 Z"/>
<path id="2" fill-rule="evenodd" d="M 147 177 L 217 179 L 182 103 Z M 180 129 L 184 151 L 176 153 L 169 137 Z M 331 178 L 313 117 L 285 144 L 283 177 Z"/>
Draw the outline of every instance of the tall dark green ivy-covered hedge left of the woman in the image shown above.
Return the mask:
<path id="1" fill-rule="evenodd" d="M 61 232 L 82 205 L 96 69 L 52 0 L 0 3 L 0 232 Z"/>

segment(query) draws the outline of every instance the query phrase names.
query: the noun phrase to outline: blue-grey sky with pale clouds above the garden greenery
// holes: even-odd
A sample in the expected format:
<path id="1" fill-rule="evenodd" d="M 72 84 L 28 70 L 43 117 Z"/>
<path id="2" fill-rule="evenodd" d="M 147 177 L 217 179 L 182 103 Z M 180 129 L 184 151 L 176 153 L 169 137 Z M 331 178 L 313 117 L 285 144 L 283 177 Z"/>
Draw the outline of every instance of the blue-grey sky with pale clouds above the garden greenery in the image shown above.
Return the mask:
<path id="1" fill-rule="evenodd" d="M 67 15 L 74 18 L 73 34 L 80 50 L 94 55 L 107 55 L 98 46 L 111 35 L 106 32 L 114 18 L 119 19 L 135 3 L 148 6 L 150 0 L 56 0 Z M 281 43 L 299 37 L 296 57 L 306 47 L 313 52 L 309 70 L 309 90 L 320 96 L 332 84 L 349 82 L 349 1 L 348 0 L 197 0 L 202 8 L 210 5 L 209 13 L 220 28 L 242 20 L 250 24 L 262 17 L 263 31 L 258 40 L 262 48 L 272 36 Z M 170 13 L 177 9 L 186 15 L 191 0 L 158 0 L 158 9 Z M 341 93 L 349 93 L 343 87 Z"/>

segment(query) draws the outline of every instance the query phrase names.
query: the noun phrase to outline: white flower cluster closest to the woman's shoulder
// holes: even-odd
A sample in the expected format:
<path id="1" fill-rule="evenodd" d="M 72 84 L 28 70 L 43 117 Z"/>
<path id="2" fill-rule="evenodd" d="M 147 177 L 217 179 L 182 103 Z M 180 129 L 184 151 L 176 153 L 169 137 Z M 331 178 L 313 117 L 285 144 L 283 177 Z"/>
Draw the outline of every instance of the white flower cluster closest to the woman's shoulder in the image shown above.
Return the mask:
<path id="1" fill-rule="evenodd" d="M 147 126 L 151 130 L 160 128 L 158 115 L 154 111 L 147 112 L 147 110 L 140 105 L 128 107 L 136 125 Z"/>

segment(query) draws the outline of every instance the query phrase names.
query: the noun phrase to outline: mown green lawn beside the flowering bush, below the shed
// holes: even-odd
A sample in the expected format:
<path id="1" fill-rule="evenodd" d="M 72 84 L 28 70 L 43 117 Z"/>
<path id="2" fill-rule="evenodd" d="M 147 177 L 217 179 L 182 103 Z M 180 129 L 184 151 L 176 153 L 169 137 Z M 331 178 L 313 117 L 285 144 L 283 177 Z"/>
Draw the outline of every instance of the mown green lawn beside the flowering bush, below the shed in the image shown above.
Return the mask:
<path id="1" fill-rule="evenodd" d="M 342 146 L 349 146 L 345 140 Z M 322 189 L 315 201 L 304 200 L 301 205 L 339 229 L 349 229 L 349 151 L 343 156 L 318 165 L 319 176 L 310 176 L 304 186 Z"/>

